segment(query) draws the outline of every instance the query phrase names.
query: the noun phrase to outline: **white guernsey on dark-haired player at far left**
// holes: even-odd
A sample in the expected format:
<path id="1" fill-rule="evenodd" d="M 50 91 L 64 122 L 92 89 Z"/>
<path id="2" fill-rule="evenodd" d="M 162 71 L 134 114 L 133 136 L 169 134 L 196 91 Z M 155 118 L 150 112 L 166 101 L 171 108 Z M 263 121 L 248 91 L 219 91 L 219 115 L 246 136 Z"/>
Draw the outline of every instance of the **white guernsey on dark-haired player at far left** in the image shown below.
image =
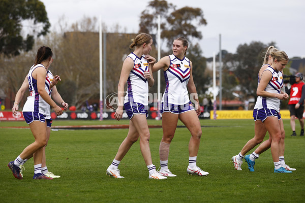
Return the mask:
<path id="1" fill-rule="evenodd" d="M 45 67 L 42 64 L 37 64 L 33 65 L 31 69 L 28 72 L 27 75 L 27 80 L 28 80 L 28 85 L 29 85 L 29 96 L 27 97 L 27 100 L 24 104 L 23 107 L 23 112 L 36 112 L 36 113 L 41 113 L 43 115 L 47 115 L 48 112 L 50 112 L 50 105 L 46 103 L 45 100 L 39 95 L 38 93 L 38 88 L 37 88 L 37 80 L 32 77 L 33 71 L 37 67 Z M 46 80 L 45 80 L 45 90 L 49 94 L 49 87 L 50 87 L 50 80 L 49 76 L 46 75 Z"/>

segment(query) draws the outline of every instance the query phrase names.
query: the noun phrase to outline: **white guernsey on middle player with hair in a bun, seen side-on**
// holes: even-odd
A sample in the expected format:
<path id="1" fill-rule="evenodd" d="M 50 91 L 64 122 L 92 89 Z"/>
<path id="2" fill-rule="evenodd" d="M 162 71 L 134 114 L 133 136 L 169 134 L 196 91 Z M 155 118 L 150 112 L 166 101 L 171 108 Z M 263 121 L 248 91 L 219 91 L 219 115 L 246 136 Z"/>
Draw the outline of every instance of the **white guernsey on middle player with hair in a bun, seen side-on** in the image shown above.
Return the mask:
<path id="1" fill-rule="evenodd" d="M 144 71 L 148 71 L 148 62 L 144 59 L 144 55 L 139 58 L 134 53 L 131 53 L 127 57 L 132 58 L 134 66 L 127 80 L 128 87 L 124 103 L 136 102 L 147 106 L 148 82 L 144 78 Z"/>

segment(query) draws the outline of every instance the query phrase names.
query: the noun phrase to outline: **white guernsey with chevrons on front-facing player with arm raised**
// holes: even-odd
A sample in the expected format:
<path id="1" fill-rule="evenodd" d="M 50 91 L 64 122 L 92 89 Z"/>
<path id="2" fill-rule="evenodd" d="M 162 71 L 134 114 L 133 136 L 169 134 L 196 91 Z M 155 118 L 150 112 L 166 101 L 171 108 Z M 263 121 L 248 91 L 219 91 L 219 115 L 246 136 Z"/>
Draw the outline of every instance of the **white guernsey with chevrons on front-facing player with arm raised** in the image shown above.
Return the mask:
<path id="1" fill-rule="evenodd" d="M 161 102 L 184 105 L 190 102 L 187 84 L 191 76 L 191 63 L 187 57 L 182 60 L 169 55 L 170 65 L 164 72 L 165 92 Z"/>

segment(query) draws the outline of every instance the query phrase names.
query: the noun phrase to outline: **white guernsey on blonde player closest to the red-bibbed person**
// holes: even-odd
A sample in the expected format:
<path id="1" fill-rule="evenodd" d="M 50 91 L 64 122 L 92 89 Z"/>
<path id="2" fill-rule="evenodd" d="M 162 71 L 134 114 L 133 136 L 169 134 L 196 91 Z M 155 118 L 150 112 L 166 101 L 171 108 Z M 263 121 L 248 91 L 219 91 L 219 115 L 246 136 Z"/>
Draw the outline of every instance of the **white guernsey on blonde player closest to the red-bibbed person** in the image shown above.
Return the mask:
<path id="1" fill-rule="evenodd" d="M 270 71 L 272 73 L 272 78 L 267 84 L 265 91 L 270 93 L 280 94 L 281 88 L 284 85 L 283 73 L 274 70 L 271 66 L 268 66 L 265 71 Z M 254 109 L 274 109 L 280 112 L 280 99 L 276 97 L 258 96 Z"/>

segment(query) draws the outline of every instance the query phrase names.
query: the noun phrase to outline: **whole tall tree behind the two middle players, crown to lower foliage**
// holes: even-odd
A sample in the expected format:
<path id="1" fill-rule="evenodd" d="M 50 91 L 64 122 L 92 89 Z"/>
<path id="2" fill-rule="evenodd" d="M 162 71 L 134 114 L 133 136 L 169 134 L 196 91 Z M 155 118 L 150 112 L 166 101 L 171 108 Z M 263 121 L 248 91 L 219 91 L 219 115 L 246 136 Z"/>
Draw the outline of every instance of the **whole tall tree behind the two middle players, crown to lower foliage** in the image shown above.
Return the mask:
<path id="1" fill-rule="evenodd" d="M 139 32 L 156 34 L 158 15 L 161 17 L 162 44 L 164 42 L 168 46 L 168 49 L 161 50 L 161 56 L 172 54 L 172 43 L 174 39 L 180 36 L 184 36 L 187 39 L 202 38 L 201 32 L 197 28 L 201 25 L 206 25 L 206 20 L 203 18 L 203 12 L 200 8 L 184 7 L 176 10 L 176 6 L 167 3 L 165 0 L 150 1 L 146 9 L 141 13 Z M 161 47 L 162 44 L 160 44 Z M 156 56 L 153 53 L 150 55 Z M 192 46 L 190 43 L 187 57 L 193 62 L 193 76 L 197 91 L 202 93 L 205 91 L 205 83 L 209 80 L 204 75 L 206 60 L 202 56 L 202 51 L 198 44 Z M 154 74 L 154 78 L 157 81 L 157 73 Z M 161 77 L 161 92 L 164 91 L 164 87 L 164 77 Z M 149 89 L 149 92 L 157 92 L 157 82 Z"/>

